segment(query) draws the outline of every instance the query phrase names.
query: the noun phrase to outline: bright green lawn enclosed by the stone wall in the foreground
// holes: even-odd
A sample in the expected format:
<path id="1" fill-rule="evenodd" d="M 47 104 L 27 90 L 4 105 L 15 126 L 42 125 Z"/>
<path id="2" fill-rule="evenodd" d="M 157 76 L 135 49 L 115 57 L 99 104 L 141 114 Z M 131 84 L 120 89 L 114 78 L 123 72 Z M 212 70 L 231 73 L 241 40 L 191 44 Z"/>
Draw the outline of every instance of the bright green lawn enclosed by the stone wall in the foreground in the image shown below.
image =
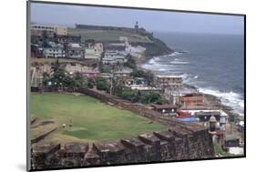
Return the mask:
<path id="1" fill-rule="evenodd" d="M 165 126 L 148 123 L 148 118 L 108 106 L 90 96 L 44 93 L 31 95 L 31 114 L 40 120 L 53 119 L 57 132 L 51 141 L 99 141 L 135 137 Z M 61 128 L 73 121 L 72 127 Z"/>

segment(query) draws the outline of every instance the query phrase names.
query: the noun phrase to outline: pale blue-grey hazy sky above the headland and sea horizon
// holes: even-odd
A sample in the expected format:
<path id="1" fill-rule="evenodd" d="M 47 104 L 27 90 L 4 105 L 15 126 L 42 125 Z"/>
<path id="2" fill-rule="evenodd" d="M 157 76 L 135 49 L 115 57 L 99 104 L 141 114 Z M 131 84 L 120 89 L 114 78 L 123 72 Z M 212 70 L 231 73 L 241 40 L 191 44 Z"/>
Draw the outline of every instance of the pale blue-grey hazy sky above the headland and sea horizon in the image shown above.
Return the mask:
<path id="1" fill-rule="evenodd" d="M 97 6 L 32 3 L 31 21 L 46 25 L 113 25 L 139 27 L 150 32 L 243 34 L 243 16 L 209 15 Z"/>

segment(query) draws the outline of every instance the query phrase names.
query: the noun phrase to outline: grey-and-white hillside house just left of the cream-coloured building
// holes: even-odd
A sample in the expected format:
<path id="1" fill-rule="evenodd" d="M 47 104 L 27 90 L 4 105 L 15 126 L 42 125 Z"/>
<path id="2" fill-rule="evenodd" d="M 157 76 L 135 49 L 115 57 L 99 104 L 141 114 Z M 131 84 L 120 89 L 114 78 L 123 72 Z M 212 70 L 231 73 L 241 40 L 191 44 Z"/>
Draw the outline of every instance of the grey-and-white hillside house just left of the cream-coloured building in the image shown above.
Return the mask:
<path id="1" fill-rule="evenodd" d="M 67 45 L 67 57 L 83 58 L 85 55 L 84 49 L 77 43 L 69 43 Z"/>

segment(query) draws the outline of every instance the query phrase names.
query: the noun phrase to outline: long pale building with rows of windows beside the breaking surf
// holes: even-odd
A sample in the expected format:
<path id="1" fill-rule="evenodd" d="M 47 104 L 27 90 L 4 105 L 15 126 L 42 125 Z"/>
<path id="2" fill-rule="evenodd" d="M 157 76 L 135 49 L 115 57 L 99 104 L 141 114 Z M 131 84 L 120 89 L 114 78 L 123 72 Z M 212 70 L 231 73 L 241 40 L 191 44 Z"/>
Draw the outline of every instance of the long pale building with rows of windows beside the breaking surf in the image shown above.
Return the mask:
<path id="1" fill-rule="evenodd" d="M 182 86 L 181 76 L 156 76 L 156 84 L 161 88 L 178 89 Z"/>

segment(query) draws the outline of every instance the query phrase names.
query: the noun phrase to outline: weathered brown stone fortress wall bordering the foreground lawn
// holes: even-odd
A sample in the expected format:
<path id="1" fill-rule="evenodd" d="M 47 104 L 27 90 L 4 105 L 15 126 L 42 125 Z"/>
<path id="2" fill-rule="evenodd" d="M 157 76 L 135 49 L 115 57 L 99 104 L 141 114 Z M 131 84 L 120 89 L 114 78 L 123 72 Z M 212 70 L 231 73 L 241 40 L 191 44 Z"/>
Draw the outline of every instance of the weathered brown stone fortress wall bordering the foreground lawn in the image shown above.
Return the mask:
<path id="1" fill-rule="evenodd" d="M 44 91 L 56 90 L 46 88 Z M 156 111 L 97 90 L 76 88 L 66 91 L 79 92 L 120 106 L 139 116 L 158 121 L 166 125 L 168 129 L 142 134 L 138 137 L 93 144 L 41 145 L 35 143 L 31 150 L 31 165 L 34 170 L 204 159 L 215 155 L 209 128 L 205 126 L 176 122 L 168 116 L 161 116 Z"/>

